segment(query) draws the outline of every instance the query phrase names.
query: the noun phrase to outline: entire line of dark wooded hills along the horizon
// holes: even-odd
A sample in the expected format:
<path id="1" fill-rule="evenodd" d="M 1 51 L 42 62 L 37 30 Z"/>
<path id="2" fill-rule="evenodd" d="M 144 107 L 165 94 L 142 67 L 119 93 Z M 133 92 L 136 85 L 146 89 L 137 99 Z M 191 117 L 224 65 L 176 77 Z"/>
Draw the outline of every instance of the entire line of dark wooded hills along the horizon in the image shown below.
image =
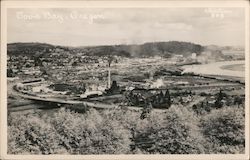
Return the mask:
<path id="1" fill-rule="evenodd" d="M 108 56 L 119 55 L 125 57 L 151 57 L 163 56 L 171 57 L 175 54 L 181 54 L 184 57 L 190 56 L 192 53 L 200 55 L 203 52 L 213 52 L 220 56 L 219 46 L 202 46 L 190 42 L 149 42 L 140 45 L 109 45 L 109 46 L 89 46 L 89 47 L 66 47 L 55 46 L 46 43 L 10 43 L 7 46 L 9 55 L 37 55 L 49 54 L 55 52 L 56 49 L 60 51 L 67 51 L 72 54 L 82 53 L 84 55 L 92 56 Z M 64 52 L 60 52 L 64 54 Z"/>

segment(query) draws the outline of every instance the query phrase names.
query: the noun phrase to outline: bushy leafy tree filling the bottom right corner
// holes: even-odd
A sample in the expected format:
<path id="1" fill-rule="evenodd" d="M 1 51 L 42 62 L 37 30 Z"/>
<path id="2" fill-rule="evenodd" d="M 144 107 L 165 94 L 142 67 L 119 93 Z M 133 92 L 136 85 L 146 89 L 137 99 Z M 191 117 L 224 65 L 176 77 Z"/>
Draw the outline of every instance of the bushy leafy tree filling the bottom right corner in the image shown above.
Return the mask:
<path id="1" fill-rule="evenodd" d="M 245 112 L 243 108 L 212 110 L 201 119 L 208 153 L 244 153 Z"/>

